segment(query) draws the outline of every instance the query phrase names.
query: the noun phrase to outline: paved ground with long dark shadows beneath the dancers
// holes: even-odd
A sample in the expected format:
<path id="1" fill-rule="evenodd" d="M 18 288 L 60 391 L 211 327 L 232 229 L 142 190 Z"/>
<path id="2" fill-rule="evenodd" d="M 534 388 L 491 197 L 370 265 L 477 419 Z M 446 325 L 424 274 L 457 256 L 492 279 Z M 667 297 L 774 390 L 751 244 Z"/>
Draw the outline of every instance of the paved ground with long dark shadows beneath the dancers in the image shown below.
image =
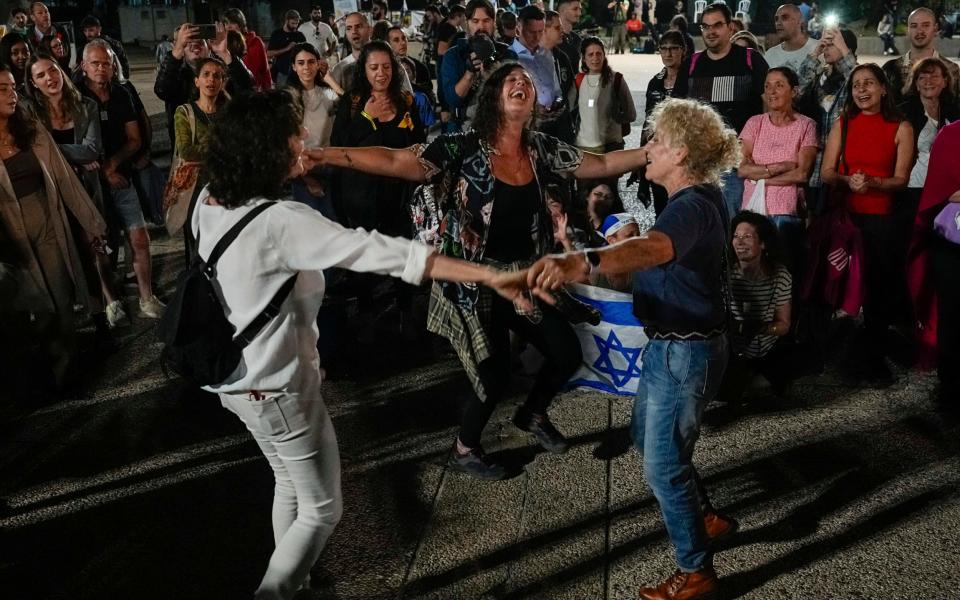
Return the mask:
<path id="1" fill-rule="evenodd" d="M 651 69 L 614 60 L 637 61 L 631 83 Z M 179 244 L 154 249 L 166 294 Z M 629 399 L 563 394 L 553 414 L 574 447 L 556 457 L 509 424 L 529 385 L 515 378 L 485 445 L 518 474 L 478 483 L 444 467 L 468 393 L 456 361 L 389 325 L 347 344 L 324 384 L 345 514 L 315 597 L 628 599 L 670 572 L 625 447 Z M 151 322 L 120 333 L 81 397 L 0 414 L 2 597 L 248 598 L 272 548 L 267 464 L 215 399 L 160 374 Z M 784 404 L 757 389 L 734 422 L 710 407 L 697 462 L 742 523 L 716 558 L 727 597 L 957 597 L 960 424 L 933 410 L 930 375 L 897 372 L 876 391 L 828 370 Z"/>

